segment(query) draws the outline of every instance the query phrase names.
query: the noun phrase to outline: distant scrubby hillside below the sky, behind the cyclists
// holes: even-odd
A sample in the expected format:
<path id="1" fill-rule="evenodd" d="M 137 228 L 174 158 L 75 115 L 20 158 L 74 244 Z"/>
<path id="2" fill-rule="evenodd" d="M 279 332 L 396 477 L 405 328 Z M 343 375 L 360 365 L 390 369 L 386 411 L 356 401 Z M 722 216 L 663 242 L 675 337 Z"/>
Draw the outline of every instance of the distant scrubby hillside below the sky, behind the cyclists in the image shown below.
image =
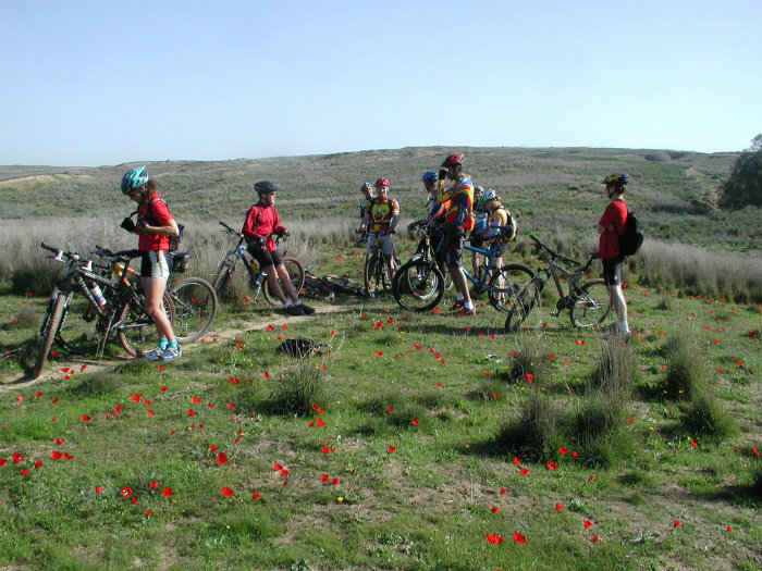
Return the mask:
<path id="1" fill-rule="evenodd" d="M 494 188 L 523 229 L 555 227 L 585 233 L 602 211 L 600 181 L 611 172 L 631 177 L 628 203 L 651 236 L 749 249 L 759 224 L 743 212 L 716 210 L 717 190 L 737 153 L 648 149 L 422 147 L 322 156 L 163 161 L 148 163 L 173 214 L 182 220 L 236 221 L 256 199 L 251 183 L 270 179 L 283 191 L 284 218 L 356 218 L 359 186 L 390 178 L 403 218 L 423 214 L 420 175 L 438 170 L 450 152 L 466 154 L 476 184 Z M 0 166 L 0 219 L 62 215 L 121 216 L 130 204 L 122 174 L 139 163 L 99 167 Z M 121 219 L 120 219 L 121 220 Z"/>

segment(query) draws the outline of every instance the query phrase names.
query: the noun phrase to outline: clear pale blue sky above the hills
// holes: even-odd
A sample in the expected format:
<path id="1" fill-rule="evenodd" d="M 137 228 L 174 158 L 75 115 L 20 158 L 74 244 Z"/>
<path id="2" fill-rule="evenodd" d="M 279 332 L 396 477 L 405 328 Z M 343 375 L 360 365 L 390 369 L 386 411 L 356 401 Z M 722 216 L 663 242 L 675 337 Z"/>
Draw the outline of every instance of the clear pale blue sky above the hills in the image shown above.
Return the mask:
<path id="1" fill-rule="evenodd" d="M 0 0 L 0 164 L 760 132 L 760 0 Z"/>

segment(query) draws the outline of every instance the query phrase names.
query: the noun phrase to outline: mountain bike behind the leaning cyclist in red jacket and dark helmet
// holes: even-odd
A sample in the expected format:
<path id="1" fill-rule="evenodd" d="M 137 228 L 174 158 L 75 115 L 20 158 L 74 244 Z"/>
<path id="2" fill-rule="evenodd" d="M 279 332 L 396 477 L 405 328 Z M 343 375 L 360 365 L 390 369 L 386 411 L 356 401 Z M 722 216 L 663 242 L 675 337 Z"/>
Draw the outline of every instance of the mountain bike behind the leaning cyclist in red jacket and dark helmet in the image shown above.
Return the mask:
<path id="1" fill-rule="evenodd" d="M 256 301 L 259 298 L 259 294 L 261 293 L 265 296 L 265 299 L 268 303 L 270 303 L 271 306 L 278 305 L 278 296 L 270 291 L 270 286 L 267 281 L 267 272 L 262 271 L 259 268 L 259 262 L 257 261 L 257 259 L 248 252 L 246 246 L 246 238 L 244 237 L 244 235 L 239 232 L 234 231 L 222 221 L 220 221 L 220 224 L 223 227 L 222 232 L 232 237 L 237 238 L 238 241 L 232 249 L 228 250 L 224 259 L 222 260 L 222 262 L 220 262 L 220 266 L 218 268 L 217 273 L 214 274 L 214 278 L 212 280 L 212 287 L 214 288 L 217 296 L 221 299 L 225 299 L 228 297 L 228 288 L 230 287 L 230 281 L 233 277 L 233 273 L 235 272 L 236 266 L 238 265 L 238 261 L 241 261 L 241 265 L 243 265 L 246 269 L 246 272 L 248 273 L 249 287 L 254 290 L 254 301 Z M 285 236 L 282 238 L 279 237 L 275 240 L 275 245 L 278 245 L 281 239 L 285 239 Z M 299 262 L 296 258 L 288 258 L 285 256 L 285 252 L 283 253 L 284 256 L 281 257 L 281 260 L 283 261 L 283 265 L 285 266 L 286 272 L 288 273 L 291 284 L 294 286 L 294 291 L 298 294 L 299 291 L 302 291 L 302 288 L 305 285 L 304 266 L 302 265 L 302 262 Z M 281 284 L 280 278 L 279 284 Z"/>

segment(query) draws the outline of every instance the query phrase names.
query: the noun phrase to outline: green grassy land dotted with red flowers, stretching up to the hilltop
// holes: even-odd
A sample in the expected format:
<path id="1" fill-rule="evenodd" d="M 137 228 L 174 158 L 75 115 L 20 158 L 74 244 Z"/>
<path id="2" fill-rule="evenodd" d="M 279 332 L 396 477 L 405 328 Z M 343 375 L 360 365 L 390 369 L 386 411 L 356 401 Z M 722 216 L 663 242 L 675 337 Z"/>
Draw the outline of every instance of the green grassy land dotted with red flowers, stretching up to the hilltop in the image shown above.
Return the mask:
<path id="1" fill-rule="evenodd" d="M 390 173 L 406 176 L 403 206 L 417 218 L 418 171 L 437 166 L 445 152 L 161 163 L 155 171 L 175 198 L 187 196 L 194 179 L 217 197 L 206 218 L 190 216 L 194 200 L 170 200 L 195 221 L 196 273 L 208 275 L 224 251 L 216 220 L 242 218 L 236 209 L 246 201 L 236 202 L 233 189 L 269 177 L 300 189 L 299 198 L 284 193 L 282 201 L 304 233 L 292 240 L 294 253 L 315 273 L 357 277 L 362 250 L 347 237 L 355 187 L 385 175 L 394 188 Z M 733 159 L 468 152 L 481 161 L 472 169 L 478 181 L 494 181 L 488 185 L 520 203 L 523 229 L 579 258 L 605 206 L 602 174 L 625 170 L 641 182 L 632 202 L 649 221 L 650 241 L 625 276 L 634 327 L 627 344 L 551 315 L 553 295 L 527 331 L 511 335 L 486 298 L 465 320 L 446 315 L 447 296 L 427 314 L 402 311 L 390 296 L 340 297 L 308 301 L 318 308 L 314 318 L 286 319 L 242 291 L 182 360 L 159 367 L 115 347 L 102 362 L 58 353 L 30 383 L 24 371 L 47 282 L 27 290 L 17 283 L 50 262 L 7 260 L 0 568 L 759 569 L 759 224 L 740 229 L 759 211 L 712 204 Z M 229 176 L 236 182 L 214 186 L 225 169 L 241 171 Z M 72 196 L 118 195 L 115 184 L 102 185 L 123 170 L 70 169 L 62 182 L 35 181 L 58 189 L 52 207 L 69 209 Z M 700 176 L 686 175 L 691 170 Z M 0 173 L 13 178 L 0 194 L 21 196 L 19 177 L 29 171 Z M 30 175 L 61 174 L 39 167 Z M 97 182 L 69 186 L 77 176 Z M 61 185 L 71 194 L 59 193 Z M 561 202 L 564 193 L 578 200 Z M 309 214 L 310 206 L 324 204 L 321 197 L 335 214 L 323 207 L 325 215 Z M 564 211 L 549 212 L 544 197 Z M 37 199 L 14 206 L 2 198 L 3 218 L 40 213 Z M 124 207 L 107 202 L 121 220 Z M 32 238 L 5 225 L 3 243 L 26 252 L 45 238 L 86 251 L 95 240 L 122 239 L 108 221 L 85 232 L 70 224 L 85 220 L 76 209 L 65 213 L 26 226 Z M 734 223 L 735 241 L 726 234 Z M 400 246 L 404 257 L 414 243 L 403 235 Z M 526 237 L 506 260 L 539 264 Z M 298 360 L 275 350 L 292 337 L 330 351 Z"/>

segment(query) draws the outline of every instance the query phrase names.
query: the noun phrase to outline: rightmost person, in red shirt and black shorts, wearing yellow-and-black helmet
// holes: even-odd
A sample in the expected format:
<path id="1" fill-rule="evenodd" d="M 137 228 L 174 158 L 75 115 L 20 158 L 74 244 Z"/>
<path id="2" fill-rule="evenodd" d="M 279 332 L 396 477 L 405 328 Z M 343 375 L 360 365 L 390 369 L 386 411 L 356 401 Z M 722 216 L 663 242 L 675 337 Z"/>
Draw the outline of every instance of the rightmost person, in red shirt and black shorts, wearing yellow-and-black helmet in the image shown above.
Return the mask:
<path id="1" fill-rule="evenodd" d="M 601 220 L 598 221 L 598 249 L 603 263 L 603 280 L 609 289 L 609 301 L 616 313 L 616 323 L 610 332 L 629 334 L 627 323 L 627 301 L 622 291 L 622 262 L 625 257 L 619 252 L 619 236 L 625 232 L 627 221 L 627 204 L 625 190 L 629 177 L 624 173 L 606 176 L 602 184 L 605 186 L 606 198 L 610 200 Z"/>

